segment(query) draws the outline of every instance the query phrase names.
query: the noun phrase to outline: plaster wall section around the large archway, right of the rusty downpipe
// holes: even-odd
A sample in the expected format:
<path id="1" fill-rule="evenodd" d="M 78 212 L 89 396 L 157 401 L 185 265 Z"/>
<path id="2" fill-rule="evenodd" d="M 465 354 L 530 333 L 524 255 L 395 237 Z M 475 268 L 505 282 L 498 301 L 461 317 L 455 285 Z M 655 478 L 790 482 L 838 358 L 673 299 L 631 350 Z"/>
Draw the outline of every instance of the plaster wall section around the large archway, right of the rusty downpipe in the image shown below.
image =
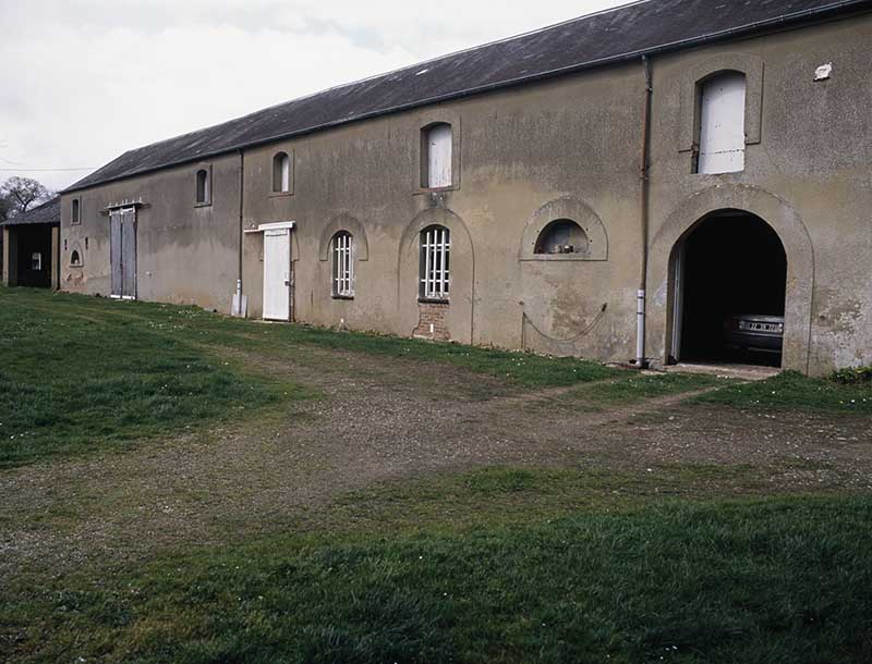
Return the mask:
<path id="1" fill-rule="evenodd" d="M 654 59 L 651 355 L 670 351 L 670 243 L 705 212 L 738 207 L 775 228 L 787 250 L 784 366 L 821 374 L 872 362 L 870 44 L 867 15 Z M 815 83 L 829 62 L 832 78 Z M 746 169 L 693 174 L 682 96 L 698 77 L 743 65 L 762 78 Z"/>

